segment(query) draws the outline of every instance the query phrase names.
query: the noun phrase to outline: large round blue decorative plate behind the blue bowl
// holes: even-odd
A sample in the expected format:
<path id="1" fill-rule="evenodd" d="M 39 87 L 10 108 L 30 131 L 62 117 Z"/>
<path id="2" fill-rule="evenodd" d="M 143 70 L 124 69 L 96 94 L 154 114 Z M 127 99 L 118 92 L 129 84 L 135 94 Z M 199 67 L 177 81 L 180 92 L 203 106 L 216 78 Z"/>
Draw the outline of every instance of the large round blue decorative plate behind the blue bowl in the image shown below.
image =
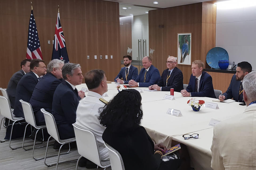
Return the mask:
<path id="1" fill-rule="evenodd" d="M 229 60 L 229 54 L 221 47 L 214 47 L 206 55 L 206 63 L 212 68 L 219 68 L 219 60 Z"/>

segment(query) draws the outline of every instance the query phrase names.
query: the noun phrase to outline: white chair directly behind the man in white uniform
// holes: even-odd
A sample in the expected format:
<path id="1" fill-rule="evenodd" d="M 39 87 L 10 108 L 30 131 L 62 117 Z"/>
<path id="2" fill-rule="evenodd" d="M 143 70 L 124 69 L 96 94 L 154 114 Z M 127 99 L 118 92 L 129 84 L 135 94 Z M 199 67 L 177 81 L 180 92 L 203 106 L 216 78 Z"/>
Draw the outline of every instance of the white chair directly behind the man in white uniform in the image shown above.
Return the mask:
<path id="1" fill-rule="evenodd" d="M 73 124 L 75 130 L 75 138 L 77 139 L 77 150 L 78 153 L 81 155 L 77 160 L 78 162 L 82 157 L 89 159 L 91 162 L 97 164 L 97 168 L 99 167 L 104 168 L 104 170 L 110 166 L 110 161 L 102 161 L 99 155 L 99 146 L 98 141 L 95 137 L 95 134 L 83 127 L 78 126 L 77 124 Z"/>

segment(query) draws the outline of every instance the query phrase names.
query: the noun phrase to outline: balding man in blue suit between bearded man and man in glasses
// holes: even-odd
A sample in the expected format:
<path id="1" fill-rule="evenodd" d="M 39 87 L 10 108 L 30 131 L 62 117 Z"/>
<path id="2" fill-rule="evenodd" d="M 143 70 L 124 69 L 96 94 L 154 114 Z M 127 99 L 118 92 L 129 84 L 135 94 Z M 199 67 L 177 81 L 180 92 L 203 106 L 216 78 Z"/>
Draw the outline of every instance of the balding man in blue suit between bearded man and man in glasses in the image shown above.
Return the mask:
<path id="1" fill-rule="evenodd" d="M 157 68 L 152 65 L 151 58 L 146 56 L 142 59 L 143 68 L 139 72 L 137 79 L 130 80 L 129 85 L 139 87 L 149 87 L 157 84 L 161 76 Z"/>

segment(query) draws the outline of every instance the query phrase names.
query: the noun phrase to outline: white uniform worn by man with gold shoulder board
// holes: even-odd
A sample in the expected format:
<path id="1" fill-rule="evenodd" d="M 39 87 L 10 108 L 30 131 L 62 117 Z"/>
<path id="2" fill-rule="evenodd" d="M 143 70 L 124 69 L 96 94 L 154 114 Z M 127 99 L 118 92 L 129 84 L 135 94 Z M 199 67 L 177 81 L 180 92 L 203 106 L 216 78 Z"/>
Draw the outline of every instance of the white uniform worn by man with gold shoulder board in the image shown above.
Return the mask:
<path id="1" fill-rule="evenodd" d="M 102 139 L 102 134 L 106 128 L 103 127 L 98 120 L 99 108 L 105 106 L 105 103 L 100 101 L 99 98 L 103 97 L 93 91 L 88 92 L 87 96 L 78 104 L 75 124 L 86 129 L 90 129 L 95 133 L 99 145 L 101 160 L 109 160 L 109 152 Z"/>

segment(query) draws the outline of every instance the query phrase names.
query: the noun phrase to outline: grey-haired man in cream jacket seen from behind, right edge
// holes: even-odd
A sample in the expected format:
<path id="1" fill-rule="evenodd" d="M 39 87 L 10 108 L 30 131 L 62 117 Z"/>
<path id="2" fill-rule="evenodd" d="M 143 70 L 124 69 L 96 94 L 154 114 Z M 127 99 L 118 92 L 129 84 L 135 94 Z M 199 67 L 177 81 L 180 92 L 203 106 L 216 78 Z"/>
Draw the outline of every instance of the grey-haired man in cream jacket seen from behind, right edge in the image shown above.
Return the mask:
<path id="1" fill-rule="evenodd" d="M 254 169 L 256 167 L 256 72 L 243 78 L 242 114 L 215 125 L 211 145 L 214 170 Z M 245 107 L 239 106 L 238 107 Z"/>

